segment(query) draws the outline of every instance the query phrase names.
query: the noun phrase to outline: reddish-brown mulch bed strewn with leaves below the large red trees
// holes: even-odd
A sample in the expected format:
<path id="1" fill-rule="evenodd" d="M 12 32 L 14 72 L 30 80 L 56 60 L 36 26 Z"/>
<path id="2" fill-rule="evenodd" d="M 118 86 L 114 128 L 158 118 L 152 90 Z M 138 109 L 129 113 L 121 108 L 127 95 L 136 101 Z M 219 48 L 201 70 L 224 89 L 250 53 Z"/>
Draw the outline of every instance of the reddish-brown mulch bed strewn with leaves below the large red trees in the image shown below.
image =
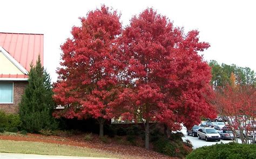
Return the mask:
<path id="1" fill-rule="evenodd" d="M 60 136 L 44 136 L 41 134 L 28 134 L 28 135 L 0 135 L 0 140 L 13 140 L 13 141 L 33 141 L 33 142 L 46 142 L 65 144 L 68 146 L 78 146 L 96 149 L 102 152 L 121 155 L 124 158 L 173 158 L 156 153 L 152 150 L 146 150 L 142 147 L 129 146 L 116 143 L 103 143 L 99 140 L 98 135 L 93 135 L 92 141 L 84 141 L 84 134 L 72 135 L 67 137 Z"/>

